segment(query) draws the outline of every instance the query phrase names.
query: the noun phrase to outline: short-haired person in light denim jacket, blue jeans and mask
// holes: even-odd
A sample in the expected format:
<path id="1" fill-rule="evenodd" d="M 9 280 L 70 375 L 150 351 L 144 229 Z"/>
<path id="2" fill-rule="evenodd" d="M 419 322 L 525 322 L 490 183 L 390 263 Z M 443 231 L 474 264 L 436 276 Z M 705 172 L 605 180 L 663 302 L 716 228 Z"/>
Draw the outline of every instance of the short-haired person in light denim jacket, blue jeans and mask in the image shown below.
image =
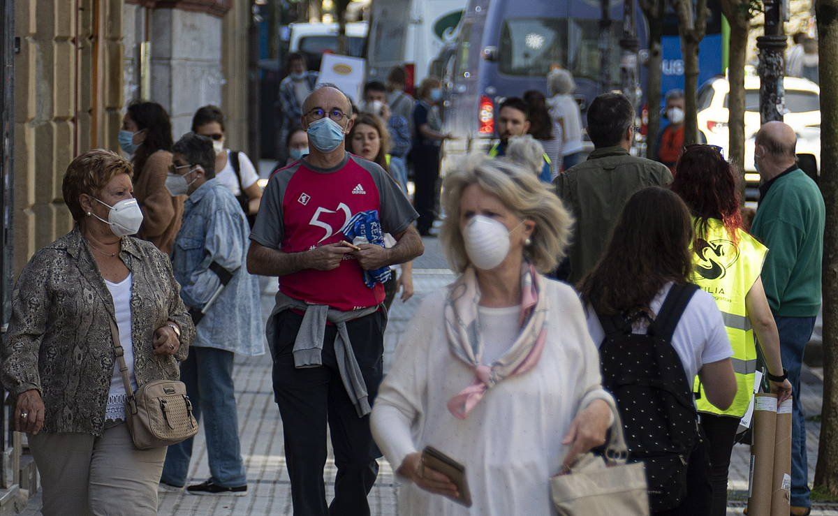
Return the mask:
<path id="1" fill-rule="evenodd" d="M 250 226 L 241 204 L 215 178 L 213 142 L 188 132 L 174 144 L 166 178 L 172 195 L 189 195 L 183 224 L 174 240 L 172 269 L 180 297 L 189 308 L 196 336 L 180 378 L 194 415 L 210 424 L 206 435 L 210 477 L 188 486 L 192 494 L 241 496 L 247 493 L 241 460 L 233 385 L 234 354 L 264 353 L 259 281 L 245 265 Z M 169 446 L 161 488 L 184 488 L 192 439 Z"/>

